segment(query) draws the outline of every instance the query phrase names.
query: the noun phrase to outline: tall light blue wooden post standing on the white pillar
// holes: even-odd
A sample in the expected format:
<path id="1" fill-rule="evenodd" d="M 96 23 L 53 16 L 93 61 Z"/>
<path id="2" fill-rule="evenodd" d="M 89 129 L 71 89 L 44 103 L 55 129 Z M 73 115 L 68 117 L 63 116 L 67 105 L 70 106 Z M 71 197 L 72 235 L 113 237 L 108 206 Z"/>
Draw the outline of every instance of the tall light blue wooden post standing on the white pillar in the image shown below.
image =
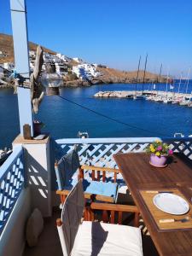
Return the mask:
<path id="1" fill-rule="evenodd" d="M 14 39 L 15 69 L 21 76 L 29 79 L 30 67 L 25 0 L 10 0 L 10 9 Z M 31 126 L 33 137 L 32 102 L 31 90 L 29 88 L 18 87 L 18 105 L 20 134 L 23 136 L 23 125 L 28 124 Z"/>

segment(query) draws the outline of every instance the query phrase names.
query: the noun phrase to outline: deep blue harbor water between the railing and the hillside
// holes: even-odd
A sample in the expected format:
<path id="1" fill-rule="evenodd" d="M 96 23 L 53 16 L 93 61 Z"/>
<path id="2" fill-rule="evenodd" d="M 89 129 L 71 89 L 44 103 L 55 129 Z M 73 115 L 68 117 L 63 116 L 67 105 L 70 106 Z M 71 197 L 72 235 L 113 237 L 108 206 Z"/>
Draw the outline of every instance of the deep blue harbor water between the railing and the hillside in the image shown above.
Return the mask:
<path id="1" fill-rule="evenodd" d="M 178 83 L 173 91 L 177 92 L 177 86 Z M 137 89 L 141 90 L 142 85 L 139 84 Z M 152 84 L 144 84 L 144 90 L 152 89 Z M 44 97 L 34 118 L 41 120 L 45 124 L 43 131 L 49 131 L 55 138 L 78 137 L 79 131 L 87 131 L 90 137 L 173 137 L 176 132 L 185 136 L 192 134 L 192 108 L 142 100 L 94 98 L 100 90 L 135 90 L 135 85 L 97 84 L 87 88 L 63 88 L 61 96 Z M 155 90 L 166 90 L 166 84 L 157 84 Z M 190 81 L 188 93 L 191 90 Z M 180 92 L 185 93 L 184 84 Z M 90 108 L 92 112 L 85 108 Z M 19 131 L 17 96 L 11 89 L 2 89 L 0 148 L 9 147 Z"/>

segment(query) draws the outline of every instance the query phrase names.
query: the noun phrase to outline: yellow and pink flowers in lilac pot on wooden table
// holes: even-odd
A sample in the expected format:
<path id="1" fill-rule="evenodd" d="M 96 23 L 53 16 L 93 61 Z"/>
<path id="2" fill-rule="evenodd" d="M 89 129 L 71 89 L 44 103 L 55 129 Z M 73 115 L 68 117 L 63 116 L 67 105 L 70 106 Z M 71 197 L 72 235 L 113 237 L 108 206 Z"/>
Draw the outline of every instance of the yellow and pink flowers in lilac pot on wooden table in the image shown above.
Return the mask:
<path id="1" fill-rule="evenodd" d="M 165 167 L 167 157 L 173 153 L 169 146 L 160 140 L 151 143 L 146 152 L 150 154 L 150 164 L 156 167 Z"/>

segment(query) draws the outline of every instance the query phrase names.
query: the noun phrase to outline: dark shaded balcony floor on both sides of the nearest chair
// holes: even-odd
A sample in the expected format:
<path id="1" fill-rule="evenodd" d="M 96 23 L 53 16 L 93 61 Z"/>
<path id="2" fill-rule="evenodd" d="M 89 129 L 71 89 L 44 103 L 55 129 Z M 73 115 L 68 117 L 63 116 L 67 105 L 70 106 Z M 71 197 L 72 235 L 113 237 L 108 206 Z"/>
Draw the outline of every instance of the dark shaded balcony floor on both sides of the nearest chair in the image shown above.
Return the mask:
<path id="1" fill-rule="evenodd" d="M 39 236 L 38 245 L 36 247 L 28 247 L 26 245 L 23 256 L 63 256 L 55 224 L 56 218 L 60 218 L 60 214 L 61 210 L 54 210 L 52 218 L 45 218 L 44 230 Z M 141 226 L 143 230 L 143 255 L 158 256 L 159 253 L 157 253 L 154 243 L 142 221 Z"/>

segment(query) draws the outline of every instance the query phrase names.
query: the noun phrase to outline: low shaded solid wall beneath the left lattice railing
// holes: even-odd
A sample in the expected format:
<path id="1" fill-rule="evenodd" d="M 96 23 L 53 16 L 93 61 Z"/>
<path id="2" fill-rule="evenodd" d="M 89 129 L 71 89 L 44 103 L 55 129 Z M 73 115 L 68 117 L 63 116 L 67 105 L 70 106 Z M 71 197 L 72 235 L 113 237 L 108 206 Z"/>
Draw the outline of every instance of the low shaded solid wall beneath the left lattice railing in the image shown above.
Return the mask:
<path id="1" fill-rule="evenodd" d="M 1 256 L 20 256 L 25 247 L 26 220 L 32 212 L 30 189 L 23 189 L 0 237 Z"/>

